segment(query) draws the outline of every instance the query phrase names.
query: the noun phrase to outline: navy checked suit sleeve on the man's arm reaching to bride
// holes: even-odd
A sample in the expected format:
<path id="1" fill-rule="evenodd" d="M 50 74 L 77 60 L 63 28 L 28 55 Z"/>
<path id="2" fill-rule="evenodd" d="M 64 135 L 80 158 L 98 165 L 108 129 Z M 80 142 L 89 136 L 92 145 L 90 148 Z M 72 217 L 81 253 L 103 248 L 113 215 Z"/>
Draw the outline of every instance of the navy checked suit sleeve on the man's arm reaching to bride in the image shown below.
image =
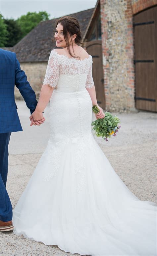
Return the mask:
<path id="1" fill-rule="evenodd" d="M 29 82 L 27 81 L 27 76 L 25 72 L 20 68 L 20 63 L 16 58 L 16 54 L 15 61 L 15 85 L 19 89 L 22 97 L 24 98 L 26 106 L 30 110 L 30 114 L 32 114 L 37 105 L 36 95 L 33 89 L 31 88 Z"/>

